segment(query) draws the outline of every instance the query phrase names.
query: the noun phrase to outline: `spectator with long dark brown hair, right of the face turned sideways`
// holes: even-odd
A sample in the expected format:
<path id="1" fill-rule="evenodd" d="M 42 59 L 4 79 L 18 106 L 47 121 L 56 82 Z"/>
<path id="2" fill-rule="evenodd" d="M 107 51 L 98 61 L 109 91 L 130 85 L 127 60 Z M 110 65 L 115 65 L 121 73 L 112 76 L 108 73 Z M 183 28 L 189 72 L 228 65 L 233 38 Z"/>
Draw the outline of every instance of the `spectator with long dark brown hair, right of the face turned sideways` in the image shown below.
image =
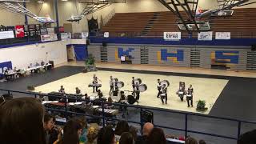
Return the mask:
<path id="1" fill-rule="evenodd" d="M 82 126 L 76 119 L 70 119 L 66 122 L 63 131 L 63 138 L 58 139 L 61 144 L 79 144 L 79 138 L 82 134 Z"/>

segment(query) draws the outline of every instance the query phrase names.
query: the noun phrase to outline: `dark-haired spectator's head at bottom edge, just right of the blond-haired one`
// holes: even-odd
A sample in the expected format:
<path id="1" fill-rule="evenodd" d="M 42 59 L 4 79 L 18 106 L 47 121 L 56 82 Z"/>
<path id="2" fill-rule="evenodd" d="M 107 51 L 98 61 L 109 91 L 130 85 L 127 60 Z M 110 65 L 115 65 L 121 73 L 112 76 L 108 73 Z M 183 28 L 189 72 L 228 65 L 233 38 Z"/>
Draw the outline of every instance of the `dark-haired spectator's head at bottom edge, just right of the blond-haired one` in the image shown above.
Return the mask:
<path id="1" fill-rule="evenodd" d="M 112 126 L 106 126 L 99 130 L 98 144 L 115 144 L 114 130 Z"/>

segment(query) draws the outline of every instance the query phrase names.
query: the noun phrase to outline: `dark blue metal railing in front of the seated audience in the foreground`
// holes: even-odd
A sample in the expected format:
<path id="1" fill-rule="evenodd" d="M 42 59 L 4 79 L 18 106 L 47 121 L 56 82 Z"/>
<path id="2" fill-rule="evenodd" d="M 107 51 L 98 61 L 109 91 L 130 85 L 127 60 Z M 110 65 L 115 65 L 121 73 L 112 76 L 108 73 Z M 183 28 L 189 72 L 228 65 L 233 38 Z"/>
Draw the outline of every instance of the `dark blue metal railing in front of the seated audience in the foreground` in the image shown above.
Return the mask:
<path id="1" fill-rule="evenodd" d="M 33 95 L 34 98 L 38 98 L 38 93 L 35 92 L 27 92 L 27 91 L 18 91 L 18 90 L 5 90 L 5 89 L 0 89 L 0 91 L 4 92 L 4 93 L 8 93 L 8 94 L 13 94 L 13 93 L 18 93 L 19 96 L 22 96 L 22 94 L 27 94 L 28 95 Z M 48 95 L 48 94 L 40 94 L 41 96 L 47 96 L 47 97 L 57 97 L 57 98 L 62 98 L 61 96 L 52 96 L 52 95 Z M 77 98 L 69 98 L 69 99 L 77 99 Z M 79 101 L 84 101 L 81 99 L 78 99 Z M 102 119 L 102 126 L 106 125 L 106 120 L 113 120 L 113 121 L 117 121 L 118 118 L 110 118 L 110 117 L 106 117 L 106 112 L 105 112 L 105 105 L 109 104 L 107 102 L 101 102 L 101 106 L 102 106 L 102 114 L 100 116 L 95 116 L 95 115 L 91 115 L 91 114 L 81 114 L 81 113 L 76 113 L 74 111 L 69 111 L 67 109 L 67 105 L 65 104 L 65 110 L 58 110 L 58 109 L 47 109 L 47 110 L 54 110 L 54 111 L 58 111 L 61 113 L 64 113 L 65 117 L 68 118 L 69 114 L 74 114 L 74 115 L 85 115 L 85 116 L 89 116 L 91 118 L 101 118 Z M 167 129 L 167 130 L 178 130 L 178 131 L 182 131 L 184 132 L 185 137 L 189 136 L 190 134 L 200 134 L 200 135 L 205 135 L 205 136 L 210 136 L 210 138 L 224 138 L 224 139 L 229 139 L 229 140 L 233 140 L 233 141 L 237 141 L 238 137 L 240 134 L 242 134 L 242 125 L 250 125 L 250 129 L 253 129 L 253 126 L 256 126 L 256 122 L 250 122 L 250 121 L 242 121 L 242 120 L 238 120 L 238 119 L 234 119 L 234 118 L 222 118 L 222 117 L 216 117 L 216 116 L 210 116 L 210 115 L 206 115 L 206 114 L 196 114 L 196 113 L 190 113 L 190 112 L 182 112 L 182 111 L 176 111 L 176 110 L 165 110 L 165 109 L 160 109 L 160 108 L 154 108 L 154 107 L 148 107 L 148 106 L 137 106 L 137 105 L 124 105 L 124 104 L 119 104 L 119 103 L 112 103 L 112 105 L 114 106 L 126 106 L 127 108 L 134 108 L 136 110 L 151 110 L 154 111 L 154 114 L 158 114 L 158 112 L 162 112 L 162 113 L 166 113 L 165 115 L 167 116 L 167 114 L 174 114 L 178 117 L 182 116 L 183 117 L 183 125 L 184 128 L 181 128 L 180 126 L 162 126 L 162 125 L 158 125 L 158 122 L 154 122 L 154 126 L 160 127 L 162 129 Z M 168 117 L 166 117 L 166 120 Z M 218 129 L 218 125 L 221 126 L 222 130 L 218 129 L 217 133 L 210 133 L 210 132 L 205 132 L 202 130 L 190 130 L 189 129 L 189 125 L 193 122 L 199 122 L 199 124 L 202 124 L 204 122 L 207 121 L 207 119 L 210 118 L 210 125 L 214 125 L 214 127 L 216 126 Z M 140 118 L 141 119 L 141 118 Z M 215 122 L 214 122 L 215 121 Z M 143 122 L 137 122 L 137 121 L 130 121 L 127 120 L 127 122 L 130 123 L 134 123 L 134 124 L 138 124 L 141 126 L 143 125 Z M 230 126 L 233 130 L 236 130 L 236 134 L 234 134 L 235 136 L 230 136 L 227 134 L 221 134 L 222 131 L 225 131 L 225 127 L 226 125 L 222 126 L 222 122 L 226 123 L 228 122 L 229 124 L 232 123 L 232 125 Z M 205 127 L 200 127 L 201 129 L 205 130 Z M 208 127 L 207 127 L 208 128 Z M 246 127 L 245 127 L 246 128 Z M 196 128 L 193 128 L 196 129 Z M 247 131 L 247 130 L 244 130 Z M 230 134 L 230 132 L 229 132 Z M 216 142 L 214 142 L 216 143 Z M 235 142 L 232 142 L 235 143 Z"/>

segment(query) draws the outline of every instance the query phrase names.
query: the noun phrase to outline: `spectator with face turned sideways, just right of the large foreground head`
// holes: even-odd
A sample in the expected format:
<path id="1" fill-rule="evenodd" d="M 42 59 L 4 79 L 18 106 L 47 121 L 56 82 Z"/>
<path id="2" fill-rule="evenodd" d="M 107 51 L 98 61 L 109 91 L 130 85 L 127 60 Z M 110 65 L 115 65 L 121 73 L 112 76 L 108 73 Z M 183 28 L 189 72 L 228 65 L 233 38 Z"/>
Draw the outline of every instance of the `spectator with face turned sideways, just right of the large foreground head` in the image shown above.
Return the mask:
<path id="1" fill-rule="evenodd" d="M 43 128 L 46 134 L 46 144 L 52 144 L 58 139 L 59 129 L 55 126 L 55 118 L 50 114 L 45 114 Z"/>

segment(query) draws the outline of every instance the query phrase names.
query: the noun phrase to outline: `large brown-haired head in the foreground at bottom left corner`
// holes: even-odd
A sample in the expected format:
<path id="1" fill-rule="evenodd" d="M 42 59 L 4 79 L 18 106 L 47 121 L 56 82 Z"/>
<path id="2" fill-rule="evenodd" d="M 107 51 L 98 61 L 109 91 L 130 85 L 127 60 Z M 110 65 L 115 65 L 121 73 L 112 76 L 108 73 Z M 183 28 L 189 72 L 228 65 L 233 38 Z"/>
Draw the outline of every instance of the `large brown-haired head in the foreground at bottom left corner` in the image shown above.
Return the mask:
<path id="1" fill-rule="evenodd" d="M 0 110 L 1 144 L 46 144 L 44 109 L 35 98 L 14 98 Z"/>

